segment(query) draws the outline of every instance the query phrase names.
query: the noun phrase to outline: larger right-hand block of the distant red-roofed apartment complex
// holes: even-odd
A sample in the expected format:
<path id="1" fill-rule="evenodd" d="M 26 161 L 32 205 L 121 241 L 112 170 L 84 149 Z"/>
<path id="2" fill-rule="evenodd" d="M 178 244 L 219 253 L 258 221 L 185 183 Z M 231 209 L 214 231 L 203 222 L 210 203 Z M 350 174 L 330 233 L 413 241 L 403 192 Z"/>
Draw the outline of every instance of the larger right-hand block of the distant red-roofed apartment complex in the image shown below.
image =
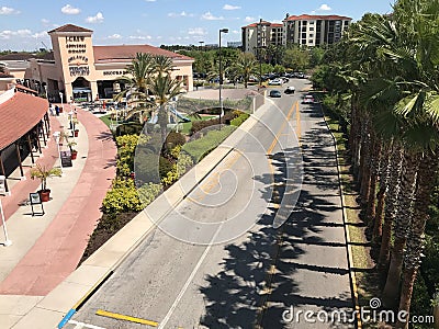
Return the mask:
<path id="1" fill-rule="evenodd" d="M 340 41 L 351 18 L 339 15 L 289 15 L 283 20 L 282 44 L 320 46 Z"/>

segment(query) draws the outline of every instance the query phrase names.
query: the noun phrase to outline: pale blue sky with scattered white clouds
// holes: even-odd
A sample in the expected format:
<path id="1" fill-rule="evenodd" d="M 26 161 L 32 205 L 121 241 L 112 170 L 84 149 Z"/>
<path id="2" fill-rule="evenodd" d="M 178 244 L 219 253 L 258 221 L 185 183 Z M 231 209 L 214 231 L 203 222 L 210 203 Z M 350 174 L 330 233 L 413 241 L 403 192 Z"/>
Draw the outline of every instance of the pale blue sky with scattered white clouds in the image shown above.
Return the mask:
<path id="1" fill-rule="evenodd" d="M 338 14 L 358 21 L 390 13 L 393 0 L 0 0 L 0 50 L 52 48 L 47 31 L 75 24 L 93 31 L 93 45 L 223 45 L 240 27 L 285 14 Z"/>

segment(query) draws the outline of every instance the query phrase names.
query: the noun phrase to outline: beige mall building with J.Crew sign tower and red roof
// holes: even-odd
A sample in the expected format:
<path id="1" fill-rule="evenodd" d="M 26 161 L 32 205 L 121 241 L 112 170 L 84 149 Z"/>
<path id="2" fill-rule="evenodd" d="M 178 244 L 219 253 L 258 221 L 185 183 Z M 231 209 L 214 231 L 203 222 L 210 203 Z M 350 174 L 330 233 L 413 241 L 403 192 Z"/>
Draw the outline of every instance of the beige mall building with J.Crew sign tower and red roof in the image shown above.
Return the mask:
<path id="1" fill-rule="evenodd" d="M 10 72 L 19 82 L 47 93 L 52 102 L 60 102 L 60 97 L 64 102 L 111 99 L 124 88 L 120 78 L 136 53 L 172 58 L 171 77 L 181 80 L 187 91 L 193 90 L 193 58 L 149 45 L 93 46 L 93 31 L 72 24 L 48 34 L 53 46 L 48 58 L 29 58 L 21 68 L 13 60 L 0 61 L 11 66 Z"/>

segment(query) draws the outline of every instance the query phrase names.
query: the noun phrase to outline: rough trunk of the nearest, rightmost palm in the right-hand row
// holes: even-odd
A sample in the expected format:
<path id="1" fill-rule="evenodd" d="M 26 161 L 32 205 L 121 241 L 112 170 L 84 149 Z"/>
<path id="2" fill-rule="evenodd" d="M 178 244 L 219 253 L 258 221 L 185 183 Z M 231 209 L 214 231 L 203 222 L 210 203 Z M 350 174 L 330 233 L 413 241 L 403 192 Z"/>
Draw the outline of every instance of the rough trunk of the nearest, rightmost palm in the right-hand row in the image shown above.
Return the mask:
<path id="1" fill-rule="evenodd" d="M 431 192 L 435 188 L 435 180 L 431 178 L 437 175 L 437 156 L 432 152 L 425 154 L 419 163 L 414 216 L 408 232 L 407 249 L 404 257 L 405 270 L 399 299 L 399 311 L 408 313 L 410 310 L 413 285 L 421 263 L 428 206 L 430 204 Z M 408 328 L 408 322 L 403 324 L 398 321 L 396 328 Z"/>

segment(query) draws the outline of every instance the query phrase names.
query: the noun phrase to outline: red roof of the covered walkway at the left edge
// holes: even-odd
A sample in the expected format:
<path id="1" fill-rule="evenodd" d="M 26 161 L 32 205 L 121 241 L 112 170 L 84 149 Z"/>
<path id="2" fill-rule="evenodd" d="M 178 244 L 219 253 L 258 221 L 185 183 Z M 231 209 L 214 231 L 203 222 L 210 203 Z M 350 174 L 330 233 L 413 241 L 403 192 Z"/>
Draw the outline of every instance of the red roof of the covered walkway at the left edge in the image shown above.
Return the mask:
<path id="1" fill-rule="evenodd" d="M 0 150 L 24 136 L 47 113 L 48 102 L 31 94 L 15 92 L 0 104 Z"/>

